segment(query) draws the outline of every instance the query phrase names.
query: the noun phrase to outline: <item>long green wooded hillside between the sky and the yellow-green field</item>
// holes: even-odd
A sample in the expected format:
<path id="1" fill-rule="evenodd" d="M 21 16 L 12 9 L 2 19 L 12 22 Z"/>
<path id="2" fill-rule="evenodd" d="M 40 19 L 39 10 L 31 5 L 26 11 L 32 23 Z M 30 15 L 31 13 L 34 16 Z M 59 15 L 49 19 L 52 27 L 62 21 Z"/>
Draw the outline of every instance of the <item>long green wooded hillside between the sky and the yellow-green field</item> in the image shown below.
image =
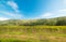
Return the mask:
<path id="1" fill-rule="evenodd" d="M 56 17 L 56 18 L 42 18 L 42 19 L 9 19 L 9 20 L 0 20 L 0 26 L 36 26 L 36 25 L 45 25 L 45 26 L 66 26 L 66 16 L 65 17 Z"/>

